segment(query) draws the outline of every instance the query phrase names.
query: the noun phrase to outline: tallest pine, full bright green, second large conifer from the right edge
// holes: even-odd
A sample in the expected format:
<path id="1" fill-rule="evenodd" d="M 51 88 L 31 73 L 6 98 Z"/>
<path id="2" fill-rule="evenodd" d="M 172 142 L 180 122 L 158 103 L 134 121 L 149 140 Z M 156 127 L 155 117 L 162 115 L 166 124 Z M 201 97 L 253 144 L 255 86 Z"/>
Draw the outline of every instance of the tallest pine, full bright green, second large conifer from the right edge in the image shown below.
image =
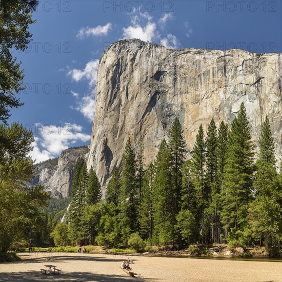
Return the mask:
<path id="1" fill-rule="evenodd" d="M 244 104 L 231 125 L 224 167 L 223 223 L 230 233 L 229 239 L 238 239 L 238 234 L 247 226 L 247 210 L 250 201 L 253 176 L 253 142 Z M 227 235 L 227 234 L 226 234 Z"/>

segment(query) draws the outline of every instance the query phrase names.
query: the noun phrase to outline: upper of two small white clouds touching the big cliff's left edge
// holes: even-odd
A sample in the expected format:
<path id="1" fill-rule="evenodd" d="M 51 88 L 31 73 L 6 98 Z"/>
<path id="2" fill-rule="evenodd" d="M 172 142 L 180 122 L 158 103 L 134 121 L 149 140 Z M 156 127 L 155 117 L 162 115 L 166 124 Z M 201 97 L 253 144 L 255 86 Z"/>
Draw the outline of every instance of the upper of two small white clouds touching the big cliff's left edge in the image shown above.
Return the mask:
<path id="1" fill-rule="evenodd" d="M 84 70 L 73 69 L 68 72 L 72 79 L 79 82 L 83 78 L 89 80 L 89 86 L 93 86 L 96 83 L 97 68 L 99 65 L 99 60 L 95 59 L 86 64 Z"/>

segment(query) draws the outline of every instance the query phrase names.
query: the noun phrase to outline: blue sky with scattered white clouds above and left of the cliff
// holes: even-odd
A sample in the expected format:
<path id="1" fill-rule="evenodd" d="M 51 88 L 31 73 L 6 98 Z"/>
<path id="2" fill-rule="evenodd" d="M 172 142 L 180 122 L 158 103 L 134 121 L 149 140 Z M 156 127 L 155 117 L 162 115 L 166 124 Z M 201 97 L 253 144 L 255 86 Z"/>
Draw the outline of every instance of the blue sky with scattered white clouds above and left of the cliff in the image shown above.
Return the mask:
<path id="1" fill-rule="evenodd" d="M 33 42 L 12 50 L 25 70 L 24 106 L 36 162 L 90 144 L 98 60 L 109 44 L 140 38 L 170 48 L 282 50 L 281 1 L 41 1 Z"/>

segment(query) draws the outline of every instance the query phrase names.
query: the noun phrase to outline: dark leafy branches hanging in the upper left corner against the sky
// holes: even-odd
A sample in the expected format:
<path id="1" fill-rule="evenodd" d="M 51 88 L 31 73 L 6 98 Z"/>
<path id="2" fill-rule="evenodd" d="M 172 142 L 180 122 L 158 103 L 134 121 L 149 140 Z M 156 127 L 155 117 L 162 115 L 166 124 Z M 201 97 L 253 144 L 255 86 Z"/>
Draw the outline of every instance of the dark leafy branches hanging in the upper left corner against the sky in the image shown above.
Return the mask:
<path id="1" fill-rule="evenodd" d="M 32 41 L 28 27 L 35 21 L 31 12 L 31 7 L 24 1 L 0 2 L 0 120 L 4 124 L 10 116 L 9 108 L 23 105 L 14 93 L 25 89 L 21 87 L 24 74 L 20 70 L 21 62 L 16 62 L 11 50 L 25 51 Z"/>

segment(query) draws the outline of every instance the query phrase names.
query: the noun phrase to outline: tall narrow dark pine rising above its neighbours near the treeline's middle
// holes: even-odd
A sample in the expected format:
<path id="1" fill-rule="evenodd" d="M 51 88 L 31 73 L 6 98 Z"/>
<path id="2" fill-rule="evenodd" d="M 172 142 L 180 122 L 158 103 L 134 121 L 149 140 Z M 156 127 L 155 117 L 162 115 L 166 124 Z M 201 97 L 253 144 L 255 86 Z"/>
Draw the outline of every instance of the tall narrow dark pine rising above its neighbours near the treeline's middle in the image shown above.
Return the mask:
<path id="1" fill-rule="evenodd" d="M 173 205 L 175 215 L 181 208 L 182 190 L 182 166 L 184 164 L 185 140 L 182 126 L 176 117 L 169 132 L 169 149 L 172 155 L 172 182 L 173 182 Z"/>

